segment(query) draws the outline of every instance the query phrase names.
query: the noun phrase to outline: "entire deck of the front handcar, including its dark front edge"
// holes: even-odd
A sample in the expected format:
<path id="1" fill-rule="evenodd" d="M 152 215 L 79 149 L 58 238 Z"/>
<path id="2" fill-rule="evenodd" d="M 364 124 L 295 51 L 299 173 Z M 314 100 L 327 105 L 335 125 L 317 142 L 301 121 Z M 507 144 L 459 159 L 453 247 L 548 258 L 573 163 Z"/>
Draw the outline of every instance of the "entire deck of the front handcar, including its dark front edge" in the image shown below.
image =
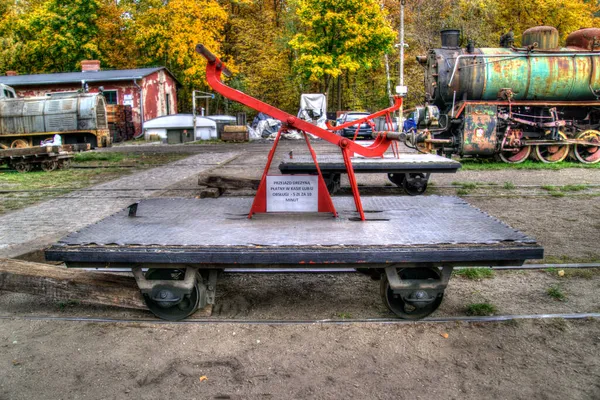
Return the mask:
<path id="1" fill-rule="evenodd" d="M 330 214 L 247 216 L 251 198 L 148 199 L 62 239 L 51 261 L 86 264 L 306 265 L 384 263 L 499 265 L 543 257 L 535 240 L 456 197 L 351 197 Z M 221 267 L 219 267 L 221 265 Z M 373 265 L 374 266 L 374 265 Z"/>

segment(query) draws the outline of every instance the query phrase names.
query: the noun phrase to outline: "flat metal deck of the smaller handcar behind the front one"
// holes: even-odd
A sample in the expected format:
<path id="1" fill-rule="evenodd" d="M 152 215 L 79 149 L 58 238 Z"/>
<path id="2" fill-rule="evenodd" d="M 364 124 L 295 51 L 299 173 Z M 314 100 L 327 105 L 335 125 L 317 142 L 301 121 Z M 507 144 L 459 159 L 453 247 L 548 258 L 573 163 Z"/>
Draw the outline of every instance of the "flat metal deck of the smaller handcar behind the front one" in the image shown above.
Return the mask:
<path id="1" fill-rule="evenodd" d="M 323 173 L 345 174 L 346 166 L 341 154 L 317 155 Z M 353 157 L 355 173 L 454 173 L 460 168 L 458 161 L 435 154 L 405 154 L 400 158 L 386 155 L 384 158 Z M 279 164 L 284 174 L 317 172 L 310 156 L 294 156 Z"/>

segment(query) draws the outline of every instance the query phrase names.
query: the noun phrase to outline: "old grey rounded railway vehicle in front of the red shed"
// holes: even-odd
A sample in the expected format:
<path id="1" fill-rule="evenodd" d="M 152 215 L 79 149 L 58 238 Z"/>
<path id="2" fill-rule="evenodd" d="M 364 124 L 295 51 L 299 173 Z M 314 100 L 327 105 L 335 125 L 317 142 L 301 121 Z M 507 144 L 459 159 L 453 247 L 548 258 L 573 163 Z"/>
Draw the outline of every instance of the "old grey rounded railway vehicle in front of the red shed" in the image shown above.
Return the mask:
<path id="1" fill-rule="evenodd" d="M 0 149 L 38 146 L 55 134 L 63 144 L 109 146 L 104 97 L 56 93 L 17 98 L 10 86 L 0 85 Z"/>

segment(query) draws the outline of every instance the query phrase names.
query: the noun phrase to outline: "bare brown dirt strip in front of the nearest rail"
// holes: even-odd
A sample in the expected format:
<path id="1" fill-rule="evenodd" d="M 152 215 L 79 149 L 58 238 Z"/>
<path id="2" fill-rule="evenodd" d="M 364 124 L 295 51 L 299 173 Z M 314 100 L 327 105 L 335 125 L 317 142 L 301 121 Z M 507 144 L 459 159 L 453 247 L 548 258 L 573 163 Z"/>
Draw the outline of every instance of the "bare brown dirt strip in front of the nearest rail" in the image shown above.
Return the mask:
<path id="1" fill-rule="evenodd" d="M 2 321 L 0 398 L 597 399 L 599 332 Z"/>

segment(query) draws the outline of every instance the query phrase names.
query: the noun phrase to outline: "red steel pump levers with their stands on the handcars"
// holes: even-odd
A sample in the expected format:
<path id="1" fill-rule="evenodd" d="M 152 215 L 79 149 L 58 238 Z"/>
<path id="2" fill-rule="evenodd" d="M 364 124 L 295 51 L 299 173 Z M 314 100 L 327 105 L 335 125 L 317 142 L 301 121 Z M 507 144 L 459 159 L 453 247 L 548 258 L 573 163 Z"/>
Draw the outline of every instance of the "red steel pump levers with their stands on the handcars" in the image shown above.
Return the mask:
<path id="1" fill-rule="evenodd" d="M 228 99 L 237 101 L 238 103 L 244 104 L 245 106 L 267 114 L 272 118 L 278 119 L 283 123 L 282 128 L 279 130 L 279 132 L 277 132 L 275 143 L 273 144 L 273 147 L 269 152 L 267 164 L 265 166 L 265 170 L 263 172 L 263 176 L 260 181 L 260 185 L 256 193 L 256 197 L 254 198 L 254 203 L 252 204 L 252 208 L 250 209 L 248 218 L 252 218 L 252 215 L 254 213 L 266 212 L 266 177 L 271 163 L 273 161 L 273 157 L 275 155 L 275 149 L 279 144 L 279 139 L 283 131 L 286 131 L 288 129 L 297 129 L 302 132 L 309 132 L 317 137 L 320 137 L 323 140 L 328 141 L 329 143 L 338 146 L 341 149 L 342 156 L 344 157 L 344 164 L 346 165 L 346 171 L 348 173 L 348 180 L 350 181 L 350 187 L 352 188 L 352 195 L 354 196 L 356 211 L 359 213 L 360 219 L 364 221 L 365 213 L 363 211 L 362 202 L 360 200 L 358 185 L 356 183 L 356 176 L 354 174 L 354 168 L 352 167 L 350 157 L 354 153 L 360 154 L 364 157 L 383 157 L 383 154 L 390 147 L 390 144 L 394 142 L 394 139 L 388 138 L 388 136 L 384 132 L 382 132 L 382 134 L 377 135 L 375 141 L 370 146 L 361 146 L 348 138 L 341 137 L 333 132 L 319 128 L 318 126 L 315 126 L 307 121 L 304 121 L 298 117 L 288 114 L 285 111 L 282 111 L 267 103 L 263 103 L 262 101 L 252 96 L 240 92 L 239 90 L 233 89 L 225 85 L 223 82 L 221 82 L 221 73 L 224 73 L 227 76 L 231 76 L 231 73 L 225 67 L 225 64 L 223 64 L 223 62 L 221 62 L 221 60 L 219 60 L 217 56 L 212 54 L 206 47 L 204 47 L 201 44 L 196 46 L 196 51 L 202 56 L 204 56 L 204 58 L 206 58 L 206 60 L 208 61 L 206 65 L 206 80 L 216 92 L 222 94 Z M 333 131 L 336 131 L 355 124 L 361 124 L 363 122 L 369 123 L 372 119 L 384 115 L 386 116 L 386 123 L 388 123 L 388 125 L 391 126 L 391 119 L 389 115 L 390 113 L 400 109 L 401 106 L 402 97 L 396 96 L 394 97 L 394 105 L 391 107 L 371 114 L 368 117 L 364 117 L 356 121 L 351 121 L 337 127 L 331 127 L 328 125 L 328 128 Z M 317 162 L 317 156 L 312 146 L 310 145 L 310 141 L 306 134 L 304 135 L 304 137 L 306 139 L 306 144 L 310 150 L 311 156 L 313 158 L 313 161 L 315 162 L 315 166 L 319 175 L 319 212 L 332 212 L 333 215 L 337 216 L 337 212 L 335 211 L 335 208 L 333 206 L 333 201 L 331 200 L 331 196 L 329 196 L 327 186 L 325 185 L 325 181 L 323 180 L 323 175 L 321 174 L 321 169 L 319 168 L 319 163 Z M 392 147 L 392 150 L 396 155 L 397 148 Z"/>

